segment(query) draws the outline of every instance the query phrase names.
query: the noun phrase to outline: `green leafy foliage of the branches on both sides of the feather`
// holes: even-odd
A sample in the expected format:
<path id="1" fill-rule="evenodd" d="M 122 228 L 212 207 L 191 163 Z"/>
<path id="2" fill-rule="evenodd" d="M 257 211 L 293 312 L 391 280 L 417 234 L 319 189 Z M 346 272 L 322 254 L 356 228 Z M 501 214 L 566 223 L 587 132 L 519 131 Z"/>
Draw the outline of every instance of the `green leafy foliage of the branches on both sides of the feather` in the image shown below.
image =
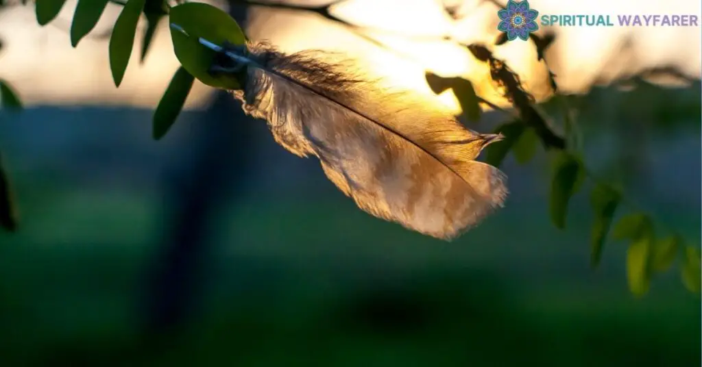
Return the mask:
<path id="1" fill-rule="evenodd" d="M 244 44 L 246 41 L 244 32 L 227 13 L 207 4 L 180 4 L 184 1 L 178 1 L 179 4 L 176 6 L 171 6 L 166 0 L 110 1 L 124 5 L 110 38 L 110 67 L 116 86 L 121 83 L 128 66 L 140 15 L 144 15 L 147 20 L 142 60 L 150 45 L 154 29 L 162 18 L 168 16 L 169 22 L 177 23 L 190 34 L 190 37 L 187 37 L 171 30 L 173 49 L 182 67 L 174 74 L 171 84 L 154 113 L 154 139 L 162 138 L 176 121 L 194 79 L 216 88 L 240 88 L 237 80 L 226 79 L 225 76 L 220 75 L 213 76 L 208 72 L 215 53 L 197 42 L 198 37 L 204 37 L 218 44 L 224 42 Z M 37 22 L 40 25 L 51 22 L 64 2 L 37 0 Z M 73 46 L 76 46 L 80 39 L 93 29 L 106 3 L 106 0 L 79 1 L 71 27 Z M 247 3 L 253 4 L 251 1 Z M 312 11 L 330 20 L 346 24 L 343 20 L 333 17 L 329 13 L 328 6 L 317 8 L 284 4 L 277 6 Z M 531 38 L 539 48 L 538 55 L 543 55 L 543 49 L 550 41 L 538 39 L 534 35 L 531 35 Z M 556 93 L 554 100 L 559 101 L 564 109 L 565 137 L 561 137 L 553 131 L 550 126 L 551 121 L 536 107 L 534 98 L 524 91 L 519 76 L 512 72 L 503 60 L 495 58 L 484 45 L 473 44 L 468 46 L 468 49 L 477 60 L 486 63 L 490 69 L 491 79 L 500 90 L 504 91 L 504 97 L 512 103 L 515 111 L 515 114 L 510 114 L 510 121 L 496 128 L 496 132 L 503 133 L 505 139 L 487 148 L 486 160 L 494 166 L 500 166 L 505 157 L 512 152 L 519 164 L 527 164 L 535 156 L 538 142 L 541 142 L 543 148 L 550 152 L 553 161 L 550 218 L 558 229 L 566 227 L 568 203 L 579 192 L 585 178 L 595 183 L 590 191 L 594 217 L 590 240 L 590 263 L 592 267 L 597 267 L 604 244 L 607 242 L 609 229 L 615 222 L 616 212 L 621 208 L 622 203 L 627 203 L 629 207 L 632 205 L 624 200 L 620 189 L 597 180 L 588 170 L 579 153 L 581 134 L 572 109 L 569 107 L 568 96 L 558 94 L 554 75 L 550 73 L 552 88 Z M 19 105 L 11 89 L 6 84 L 0 84 L 0 86 L 4 86 L 2 89 L 4 105 L 8 107 Z M 480 118 L 481 104 L 499 109 L 476 95 L 475 88 L 468 80 L 454 80 L 453 93 L 461 102 L 465 117 L 469 121 Z M 699 293 L 700 255 L 697 249 L 686 245 L 682 236 L 675 231 L 668 230 L 670 233 L 665 239 L 656 239 L 654 227 L 654 221 L 647 213 L 635 209 L 614 224 L 611 238 L 629 242 L 627 276 L 630 290 L 635 295 L 647 293 L 651 275 L 654 272 L 665 272 L 673 265 L 675 258 L 679 258 L 680 276 L 684 286 L 691 292 Z"/>

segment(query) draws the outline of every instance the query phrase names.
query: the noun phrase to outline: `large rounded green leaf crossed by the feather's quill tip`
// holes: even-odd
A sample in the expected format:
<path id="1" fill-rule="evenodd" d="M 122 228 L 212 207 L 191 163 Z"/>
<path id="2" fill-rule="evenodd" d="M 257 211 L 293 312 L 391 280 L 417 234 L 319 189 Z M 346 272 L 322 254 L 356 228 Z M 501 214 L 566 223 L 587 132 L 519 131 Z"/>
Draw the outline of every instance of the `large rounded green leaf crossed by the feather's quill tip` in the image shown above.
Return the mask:
<path id="1" fill-rule="evenodd" d="M 216 53 L 197 41 L 198 37 L 203 37 L 220 45 L 225 41 L 245 44 L 244 32 L 229 14 L 208 4 L 185 3 L 171 8 L 170 21 L 190 34 L 188 37 L 171 28 L 173 51 L 187 72 L 208 86 L 230 90 L 241 88 L 233 76 L 213 76 L 208 72 Z"/>

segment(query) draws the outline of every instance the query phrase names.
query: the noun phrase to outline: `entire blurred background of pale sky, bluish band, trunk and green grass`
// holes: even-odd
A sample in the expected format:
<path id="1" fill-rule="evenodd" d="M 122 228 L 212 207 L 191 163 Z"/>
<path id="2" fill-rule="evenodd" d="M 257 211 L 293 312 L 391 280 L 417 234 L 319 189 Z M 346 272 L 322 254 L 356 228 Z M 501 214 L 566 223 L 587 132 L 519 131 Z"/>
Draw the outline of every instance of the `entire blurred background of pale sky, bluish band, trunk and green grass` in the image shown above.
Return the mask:
<path id="1" fill-rule="evenodd" d="M 492 2 L 353 0 L 337 9 L 368 34 L 308 11 L 239 3 L 212 4 L 252 39 L 366 55 L 418 91 L 430 91 L 426 71 L 463 76 L 505 105 L 465 50 L 494 44 Z M 564 12 L 552 3 L 531 4 Z M 648 3 L 643 11 L 665 4 L 698 16 L 701 6 Z M 45 27 L 31 4 L 0 8 L 0 78 L 27 105 L 0 110 L 20 211 L 18 232 L 0 233 L 0 366 L 700 363 L 698 296 L 671 270 L 634 298 L 625 243 L 607 243 L 591 269 L 587 187 L 571 201 L 567 229 L 555 229 L 545 152 L 504 162 L 503 210 L 456 241 L 431 239 L 360 211 L 318 161 L 289 154 L 265 123 L 201 84 L 166 138 L 152 140 L 153 109 L 178 67 L 166 22 L 141 64 L 137 37 L 115 88 L 107 40 L 119 6 L 72 49 L 74 4 Z M 568 11 L 588 11 L 575 7 Z M 698 246 L 700 28 L 659 30 L 555 29 L 545 60 L 578 93 L 590 168 Z M 493 50 L 548 100 L 533 42 Z M 628 83 L 635 75 L 645 81 Z M 451 94 L 437 103 L 460 109 Z M 504 121 L 488 112 L 471 128 Z"/>

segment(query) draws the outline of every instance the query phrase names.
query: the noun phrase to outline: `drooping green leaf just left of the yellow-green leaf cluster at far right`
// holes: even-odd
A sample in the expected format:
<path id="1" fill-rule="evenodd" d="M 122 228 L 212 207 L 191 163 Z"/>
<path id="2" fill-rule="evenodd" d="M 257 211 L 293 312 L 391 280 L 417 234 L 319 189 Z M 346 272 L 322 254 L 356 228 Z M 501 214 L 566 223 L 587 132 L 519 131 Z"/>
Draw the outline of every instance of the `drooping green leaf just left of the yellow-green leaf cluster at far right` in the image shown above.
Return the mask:
<path id="1" fill-rule="evenodd" d="M 592 223 L 590 241 L 590 265 L 596 267 L 600 264 L 604 239 L 611 227 L 614 212 L 621 201 L 621 193 L 606 185 L 597 185 L 590 193 L 590 205 L 595 213 L 595 222 Z"/>

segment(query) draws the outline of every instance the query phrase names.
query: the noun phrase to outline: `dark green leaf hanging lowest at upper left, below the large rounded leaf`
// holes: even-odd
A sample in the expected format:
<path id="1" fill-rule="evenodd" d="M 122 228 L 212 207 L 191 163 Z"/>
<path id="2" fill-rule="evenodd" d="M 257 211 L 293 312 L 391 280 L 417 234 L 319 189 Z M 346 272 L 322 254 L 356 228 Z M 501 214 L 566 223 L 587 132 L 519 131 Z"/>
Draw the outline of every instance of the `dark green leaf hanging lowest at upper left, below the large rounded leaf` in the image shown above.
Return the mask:
<path id="1" fill-rule="evenodd" d="M 154 139 L 163 138 L 168 129 L 176 122 L 194 80 L 194 76 L 190 75 L 183 67 L 179 67 L 176 74 L 173 74 L 171 84 L 168 84 L 168 89 L 154 112 Z"/>

